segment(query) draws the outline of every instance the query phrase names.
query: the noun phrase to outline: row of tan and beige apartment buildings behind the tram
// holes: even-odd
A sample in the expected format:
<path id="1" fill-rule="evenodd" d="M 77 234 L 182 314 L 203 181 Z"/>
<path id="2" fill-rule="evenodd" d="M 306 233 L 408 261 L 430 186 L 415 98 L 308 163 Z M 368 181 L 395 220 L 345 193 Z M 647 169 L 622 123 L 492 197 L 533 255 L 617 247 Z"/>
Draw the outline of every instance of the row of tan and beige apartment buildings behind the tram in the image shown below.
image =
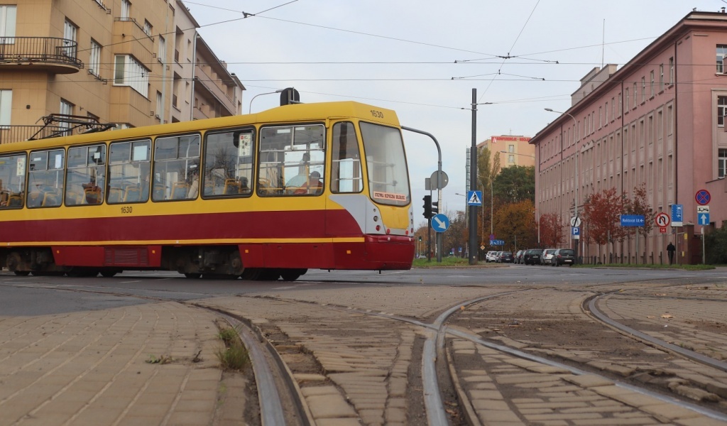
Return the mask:
<path id="1" fill-rule="evenodd" d="M 137 127 L 241 113 L 244 87 L 198 27 L 180 0 L 0 4 L 0 142 L 82 132 L 84 118 Z M 41 131 L 58 113 L 78 118 Z"/>

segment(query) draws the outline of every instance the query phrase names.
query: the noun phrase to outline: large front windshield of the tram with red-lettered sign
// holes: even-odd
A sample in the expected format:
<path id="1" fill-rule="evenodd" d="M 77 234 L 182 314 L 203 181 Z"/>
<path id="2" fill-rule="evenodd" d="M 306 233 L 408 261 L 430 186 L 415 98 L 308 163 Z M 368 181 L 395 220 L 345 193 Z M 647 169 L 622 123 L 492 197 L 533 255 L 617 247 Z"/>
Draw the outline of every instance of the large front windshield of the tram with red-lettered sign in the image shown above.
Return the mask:
<path id="1" fill-rule="evenodd" d="M 361 123 L 369 193 L 379 204 L 406 206 L 411 201 L 401 132 L 378 124 Z"/>

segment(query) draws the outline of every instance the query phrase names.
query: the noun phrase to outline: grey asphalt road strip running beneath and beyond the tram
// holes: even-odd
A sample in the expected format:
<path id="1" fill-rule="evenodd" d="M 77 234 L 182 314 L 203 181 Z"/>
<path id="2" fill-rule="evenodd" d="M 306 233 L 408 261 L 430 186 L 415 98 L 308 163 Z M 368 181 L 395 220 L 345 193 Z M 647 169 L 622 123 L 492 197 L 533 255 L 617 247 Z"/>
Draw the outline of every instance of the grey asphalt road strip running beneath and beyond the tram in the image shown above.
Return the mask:
<path id="1" fill-rule="evenodd" d="M 0 316 L 38 316 L 103 310 L 163 300 L 196 300 L 286 289 L 350 286 L 486 286 L 488 284 L 614 284 L 634 281 L 727 283 L 727 268 L 706 271 L 620 268 L 551 268 L 502 265 L 416 268 L 408 271 L 311 270 L 298 281 L 265 282 L 188 279 L 178 273 L 129 271 L 114 278 L 18 277 L 0 273 Z"/>

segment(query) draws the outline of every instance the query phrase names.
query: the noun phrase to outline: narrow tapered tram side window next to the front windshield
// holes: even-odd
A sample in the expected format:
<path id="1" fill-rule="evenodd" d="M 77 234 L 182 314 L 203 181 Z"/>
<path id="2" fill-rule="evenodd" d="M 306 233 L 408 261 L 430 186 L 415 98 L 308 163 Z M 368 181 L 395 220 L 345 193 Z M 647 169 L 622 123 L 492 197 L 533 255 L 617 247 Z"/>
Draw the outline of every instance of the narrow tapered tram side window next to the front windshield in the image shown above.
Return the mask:
<path id="1" fill-rule="evenodd" d="M 364 189 L 361 174 L 361 156 L 353 123 L 336 123 L 333 126 L 331 145 L 331 191 L 334 193 L 360 193 Z"/>

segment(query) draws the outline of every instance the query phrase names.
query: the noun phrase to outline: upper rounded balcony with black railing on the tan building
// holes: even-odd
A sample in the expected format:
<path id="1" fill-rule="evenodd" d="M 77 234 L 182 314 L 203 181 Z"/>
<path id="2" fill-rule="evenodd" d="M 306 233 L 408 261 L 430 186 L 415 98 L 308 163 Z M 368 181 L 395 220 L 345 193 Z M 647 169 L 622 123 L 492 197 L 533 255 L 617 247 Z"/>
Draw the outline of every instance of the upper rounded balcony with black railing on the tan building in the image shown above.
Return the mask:
<path id="1" fill-rule="evenodd" d="M 0 70 L 28 69 L 55 74 L 77 73 L 78 43 L 57 37 L 0 37 Z"/>

